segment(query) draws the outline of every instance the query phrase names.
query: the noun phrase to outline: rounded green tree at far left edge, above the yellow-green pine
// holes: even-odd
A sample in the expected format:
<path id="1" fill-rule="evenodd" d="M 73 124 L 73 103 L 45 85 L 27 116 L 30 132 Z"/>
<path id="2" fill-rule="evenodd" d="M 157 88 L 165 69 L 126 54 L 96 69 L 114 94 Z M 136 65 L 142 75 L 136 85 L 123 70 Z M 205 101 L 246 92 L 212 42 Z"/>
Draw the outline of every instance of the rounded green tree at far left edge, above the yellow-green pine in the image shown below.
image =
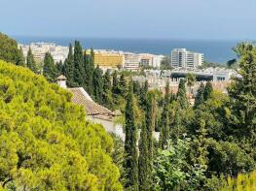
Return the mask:
<path id="1" fill-rule="evenodd" d="M 18 66 L 25 66 L 25 61 L 18 43 L 0 32 L 0 59 L 12 62 Z"/>

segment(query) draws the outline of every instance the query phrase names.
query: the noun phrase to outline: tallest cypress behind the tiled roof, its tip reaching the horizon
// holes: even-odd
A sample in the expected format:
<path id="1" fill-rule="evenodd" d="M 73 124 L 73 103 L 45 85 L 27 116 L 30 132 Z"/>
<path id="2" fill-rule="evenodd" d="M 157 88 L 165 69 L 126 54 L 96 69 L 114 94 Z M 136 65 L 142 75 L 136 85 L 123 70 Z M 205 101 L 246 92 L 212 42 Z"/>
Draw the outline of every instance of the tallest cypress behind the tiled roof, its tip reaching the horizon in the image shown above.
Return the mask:
<path id="1" fill-rule="evenodd" d="M 83 48 L 79 41 L 75 41 L 74 46 L 74 80 L 78 85 L 85 86 L 85 69 L 84 69 L 84 54 Z"/>

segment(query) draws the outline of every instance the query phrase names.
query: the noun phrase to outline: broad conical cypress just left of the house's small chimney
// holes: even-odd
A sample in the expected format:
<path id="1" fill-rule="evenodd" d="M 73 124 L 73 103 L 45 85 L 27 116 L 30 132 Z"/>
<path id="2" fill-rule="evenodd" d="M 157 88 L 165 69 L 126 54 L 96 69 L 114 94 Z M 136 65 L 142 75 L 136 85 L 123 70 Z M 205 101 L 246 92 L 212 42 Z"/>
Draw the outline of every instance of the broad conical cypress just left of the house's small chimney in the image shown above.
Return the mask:
<path id="1" fill-rule="evenodd" d="M 46 52 L 45 58 L 44 58 L 44 69 L 43 69 L 43 75 L 44 77 L 53 82 L 55 81 L 58 73 L 55 67 L 55 60 L 50 52 Z"/>

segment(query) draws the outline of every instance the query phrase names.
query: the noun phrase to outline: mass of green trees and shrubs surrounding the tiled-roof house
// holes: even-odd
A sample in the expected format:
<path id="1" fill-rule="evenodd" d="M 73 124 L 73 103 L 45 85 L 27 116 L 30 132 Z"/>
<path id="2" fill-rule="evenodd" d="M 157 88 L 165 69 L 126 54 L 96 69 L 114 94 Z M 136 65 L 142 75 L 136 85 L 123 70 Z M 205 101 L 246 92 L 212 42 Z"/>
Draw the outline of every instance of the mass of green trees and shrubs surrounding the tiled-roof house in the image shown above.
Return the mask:
<path id="1" fill-rule="evenodd" d="M 238 76 L 228 93 L 201 83 L 194 106 L 186 91 L 194 76 L 180 80 L 176 94 L 167 82 L 163 94 L 148 81 L 130 80 L 131 73 L 103 74 L 93 49 L 85 52 L 77 41 L 63 65 L 47 54 L 43 74 L 49 81 L 64 74 L 69 86 L 83 86 L 96 102 L 124 113 L 119 122 L 126 140 L 113 137 L 114 145 L 70 103 L 69 93 L 1 62 L 1 186 L 122 190 L 122 182 L 126 190 L 254 190 L 256 47 L 242 43 L 235 51 Z"/>

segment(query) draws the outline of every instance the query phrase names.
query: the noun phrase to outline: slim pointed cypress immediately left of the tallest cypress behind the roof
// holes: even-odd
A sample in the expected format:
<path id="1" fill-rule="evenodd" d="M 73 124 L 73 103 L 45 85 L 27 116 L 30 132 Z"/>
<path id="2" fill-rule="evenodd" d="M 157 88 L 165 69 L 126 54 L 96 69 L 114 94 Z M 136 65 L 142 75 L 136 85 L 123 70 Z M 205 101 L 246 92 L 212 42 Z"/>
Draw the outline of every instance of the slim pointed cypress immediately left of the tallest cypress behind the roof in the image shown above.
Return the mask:
<path id="1" fill-rule="evenodd" d="M 77 86 L 77 84 L 74 81 L 74 72 L 75 72 L 74 55 L 73 55 L 72 45 L 70 44 L 68 55 L 63 65 L 63 74 L 67 78 L 67 85 L 70 87 Z"/>

